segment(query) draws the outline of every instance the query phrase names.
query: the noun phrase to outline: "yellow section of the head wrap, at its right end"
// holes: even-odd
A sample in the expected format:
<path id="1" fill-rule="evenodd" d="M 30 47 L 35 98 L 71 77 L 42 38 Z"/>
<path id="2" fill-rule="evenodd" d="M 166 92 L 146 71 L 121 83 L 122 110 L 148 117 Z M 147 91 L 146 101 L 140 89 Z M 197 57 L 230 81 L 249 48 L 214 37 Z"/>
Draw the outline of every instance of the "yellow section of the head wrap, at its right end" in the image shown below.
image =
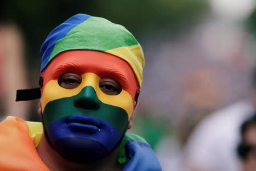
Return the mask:
<path id="1" fill-rule="evenodd" d="M 143 81 L 143 68 L 144 68 L 144 54 L 140 44 L 131 45 L 129 47 L 120 47 L 105 51 L 112 55 L 116 55 L 131 65 L 133 72 L 137 77 L 141 87 Z"/>

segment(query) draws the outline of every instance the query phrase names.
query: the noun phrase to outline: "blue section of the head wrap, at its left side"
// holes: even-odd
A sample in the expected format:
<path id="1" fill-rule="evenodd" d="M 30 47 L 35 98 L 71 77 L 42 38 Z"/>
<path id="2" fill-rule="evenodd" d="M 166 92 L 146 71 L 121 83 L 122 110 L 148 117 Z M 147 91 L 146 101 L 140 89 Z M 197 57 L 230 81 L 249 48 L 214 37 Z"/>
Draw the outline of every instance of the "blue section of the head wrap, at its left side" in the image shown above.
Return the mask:
<path id="1" fill-rule="evenodd" d="M 78 26 L 78 24 L 84 22 L 90 17 L 91 15 L 76 14 L 50 32 L 40 49 L 40 56 L 42 57 L 42 64 L 40 69 L 41 72 L 46 66 L 49 57 L 51 56 L 55 42 L 59 39 L 62 39 L 67 35 L 68 32 L 70 32 L 70 30 L 72 30 L 72 28 Z"/>

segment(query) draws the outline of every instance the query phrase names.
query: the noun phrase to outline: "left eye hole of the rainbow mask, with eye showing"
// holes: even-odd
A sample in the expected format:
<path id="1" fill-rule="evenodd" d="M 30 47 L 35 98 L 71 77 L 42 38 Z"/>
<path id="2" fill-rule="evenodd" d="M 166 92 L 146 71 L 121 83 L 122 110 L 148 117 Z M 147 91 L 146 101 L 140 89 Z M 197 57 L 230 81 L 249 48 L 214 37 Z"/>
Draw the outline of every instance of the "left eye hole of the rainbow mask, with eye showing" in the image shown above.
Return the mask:
<path id="1" fill-rule="evenodd" d="M 74 89 L 78 87 L 82 81 L 82 77 L 76 73 L 64 73 L 58 78 L 59 86 L 65 89 Z"/>

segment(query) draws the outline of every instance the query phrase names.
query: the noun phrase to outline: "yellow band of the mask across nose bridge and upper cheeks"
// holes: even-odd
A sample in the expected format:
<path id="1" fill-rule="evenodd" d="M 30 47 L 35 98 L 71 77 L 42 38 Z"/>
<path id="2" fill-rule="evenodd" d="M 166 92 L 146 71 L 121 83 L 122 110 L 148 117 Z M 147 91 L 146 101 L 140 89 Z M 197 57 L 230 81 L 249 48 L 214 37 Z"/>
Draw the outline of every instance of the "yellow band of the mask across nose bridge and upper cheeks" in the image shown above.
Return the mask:
<path id="1" fill-rule="evenodd" d="M 63 87 L 60 87 L 58 80 L 51 80 L 47 82 L 46 86 L 44 86 L 41 97 L 42 110 L 44 111 L 44 107 L 51 101 L 77 95 L 85 86 L 92 86 L 94 87 L 97 97 L 101 102 L 123 108 L 130 119 L 133 111 L 133 100 L 131 95 L 125 90 L 122 90 L 118 95 L 107 95 L 100 90 L 99 81 L 100 77 L 96 74 L 84 73 L 82 75 L 81 84 L 75 89 L 64 89 Z"/>

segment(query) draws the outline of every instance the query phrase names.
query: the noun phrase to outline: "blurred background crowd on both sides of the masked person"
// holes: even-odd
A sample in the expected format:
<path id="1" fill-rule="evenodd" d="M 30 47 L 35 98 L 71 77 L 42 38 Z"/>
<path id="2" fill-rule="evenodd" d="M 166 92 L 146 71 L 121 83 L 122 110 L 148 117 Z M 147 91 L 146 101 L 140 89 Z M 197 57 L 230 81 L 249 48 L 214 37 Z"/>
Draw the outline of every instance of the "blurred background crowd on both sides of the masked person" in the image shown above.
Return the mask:
<path id="1" fill-rule="evenodd" d="M 131 131 L 166 171 L 256 170 L 256 35 L 242 19 L 216 15 L 183 30 L 143 37 L 143 91 Z M 15 102 L 16 90 L 39 77 L 26 66 L 25 41 L 17 24 L 0 23 L 0 119 L 39 120 L 37 102 Z"/>

